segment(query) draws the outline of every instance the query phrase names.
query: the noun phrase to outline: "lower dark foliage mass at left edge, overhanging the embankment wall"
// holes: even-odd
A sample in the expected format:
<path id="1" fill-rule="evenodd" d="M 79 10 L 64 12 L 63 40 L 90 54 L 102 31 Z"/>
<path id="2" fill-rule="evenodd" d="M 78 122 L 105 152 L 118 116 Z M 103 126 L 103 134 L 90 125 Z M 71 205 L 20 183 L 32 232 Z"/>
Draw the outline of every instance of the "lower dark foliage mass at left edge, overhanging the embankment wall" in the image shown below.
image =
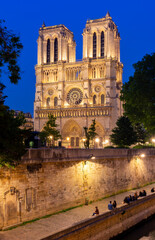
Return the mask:
<path id="1" fill-rule="evenodd" d="M 14 111 L 3 105 L 3 100 L 0 96 L 0 166 L 14 166 L 26 152 L 24 140 L 29 131 L 21 128 L 24 115 L 21 113 L 15 118 Z"/>

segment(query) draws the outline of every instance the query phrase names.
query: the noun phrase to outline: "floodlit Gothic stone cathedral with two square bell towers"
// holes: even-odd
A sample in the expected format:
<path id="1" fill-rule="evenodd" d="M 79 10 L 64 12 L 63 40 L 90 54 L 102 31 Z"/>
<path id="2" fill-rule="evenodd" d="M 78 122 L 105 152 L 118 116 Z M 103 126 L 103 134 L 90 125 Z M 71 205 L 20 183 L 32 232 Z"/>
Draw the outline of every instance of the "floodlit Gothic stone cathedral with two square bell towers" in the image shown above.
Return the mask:
<path id="1" fill-rule="evenodd" d="M 64 25 L 43 24 L 37 42 L 34 130 L 41 131 L 53 114 L 62 145 L 83 147 L 83 127 L 95 119 L 96 147 L 104 147 L 122 115 L 120 34 L 110 14 L 87 21 L 81 61 L 76 61 L 73 33 Z"/>

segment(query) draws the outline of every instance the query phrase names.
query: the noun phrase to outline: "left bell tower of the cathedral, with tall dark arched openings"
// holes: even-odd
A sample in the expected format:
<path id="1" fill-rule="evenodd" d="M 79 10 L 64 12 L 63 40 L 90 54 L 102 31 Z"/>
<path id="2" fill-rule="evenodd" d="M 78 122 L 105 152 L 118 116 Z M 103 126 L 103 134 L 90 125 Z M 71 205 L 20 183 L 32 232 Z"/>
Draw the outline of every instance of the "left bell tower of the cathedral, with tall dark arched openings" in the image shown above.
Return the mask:
<path id="1" fill-rule="evenodd" d="M 75 41 L 73 33 L 64 25 L 39 29 L 38 65 L 59 61 L 75 62 Z"/>

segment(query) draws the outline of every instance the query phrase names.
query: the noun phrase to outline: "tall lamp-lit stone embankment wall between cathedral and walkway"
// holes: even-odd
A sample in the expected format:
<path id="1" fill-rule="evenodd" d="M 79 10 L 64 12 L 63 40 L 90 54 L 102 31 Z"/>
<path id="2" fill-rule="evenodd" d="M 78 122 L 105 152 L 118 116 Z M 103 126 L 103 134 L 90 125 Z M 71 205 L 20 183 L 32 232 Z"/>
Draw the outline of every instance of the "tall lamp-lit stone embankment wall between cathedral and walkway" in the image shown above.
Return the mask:
<path id="1" fill-rule="evenodd" d="M 154 163 L 154 149 L 30 149 L 0 169 L 0 229 L 154 182 Z"/>

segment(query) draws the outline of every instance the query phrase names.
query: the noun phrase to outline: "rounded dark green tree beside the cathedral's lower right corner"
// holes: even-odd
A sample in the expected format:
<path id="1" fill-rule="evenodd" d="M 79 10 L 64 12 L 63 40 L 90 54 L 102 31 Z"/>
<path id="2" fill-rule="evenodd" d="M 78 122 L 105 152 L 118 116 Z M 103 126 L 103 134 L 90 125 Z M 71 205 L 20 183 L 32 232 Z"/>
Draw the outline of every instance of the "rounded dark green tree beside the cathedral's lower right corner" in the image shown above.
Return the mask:
<path id="1" fill-rule="evenodd" d="M 121 116 L 117 122 L 116 127 L 112 130 L 110 135 L 111 142 L 117 147 L 129 147 L 137 142 L 137 134 L 134 130 L 130 120 L 126 116 Z"/>

